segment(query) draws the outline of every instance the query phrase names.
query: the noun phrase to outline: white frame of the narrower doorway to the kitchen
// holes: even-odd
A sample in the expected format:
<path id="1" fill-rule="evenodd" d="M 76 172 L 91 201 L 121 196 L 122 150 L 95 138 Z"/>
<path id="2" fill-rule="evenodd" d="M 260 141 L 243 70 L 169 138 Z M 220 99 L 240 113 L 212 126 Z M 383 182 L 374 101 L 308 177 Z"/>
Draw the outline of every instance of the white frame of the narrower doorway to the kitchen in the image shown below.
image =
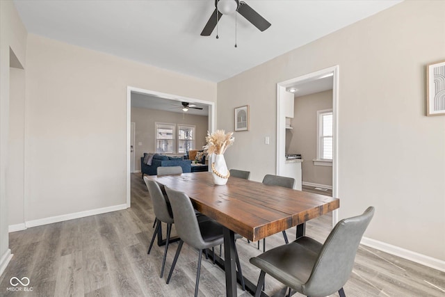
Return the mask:
<path id="1" fill-rule="evenodd" d="M 284 117 L 284 100 L 281 97 L 282 92 L 286 88 L 295 85 L 299 82 L 315 81 L 328 75 L 332 75 L 332 114 L 333 114 L 333 152 L 332 152 L 332 197 L 338 197 L 339 184 L 339 65 L 318 70 L 309 74 L 295 77 L 287 81 L 277 83 L 277 164 L 276 172 L 280 175 L 284 168 L 286 161 L 286 119 Z M 332 227 L 337 224 L 339 220 L 338 209 L 332 211 Z"/>

